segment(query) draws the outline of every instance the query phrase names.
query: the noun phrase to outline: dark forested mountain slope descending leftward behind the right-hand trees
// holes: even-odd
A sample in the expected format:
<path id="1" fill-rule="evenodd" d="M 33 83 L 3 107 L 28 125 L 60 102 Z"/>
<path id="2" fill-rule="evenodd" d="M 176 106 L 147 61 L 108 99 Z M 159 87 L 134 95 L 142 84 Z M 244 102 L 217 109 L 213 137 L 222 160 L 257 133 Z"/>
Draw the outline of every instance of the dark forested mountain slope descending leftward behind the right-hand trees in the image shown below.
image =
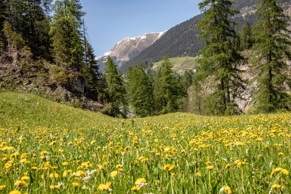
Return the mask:
<path id="1" fill-rule="evenodd" d="M 255 23 L 257 17 L 255 12 L 258 4 L 256 3 L 257 0 L 235 1 L 236 4 L 233 5 L 233 8 L 240 10 L 241 13 L 234 16 L 232 20 L 238 24 L 237 30 L 240 31 L 242 25 L 247 21 L 251 25 Z M 278 0 L 278 3 L 282 5 L 287 14 L 291 13 L 291 0 Z M 119 70 L 126 72 L 129 66 L 134 67 L 135 65 L 141 65 L 147 68 L 150 62 L 160 61 L 164 54 L 167 54 L 169 58 L 183 56 L 195 57 L 197 52 L 204 48 L 201 39 L 198 37 L 200 32 L 197 30 L 199 20 L 203 18 L 204 14 L 200 14 L 171 28 L 155 44 L 152 44 L 140 52 L 135 58 L 123 64 Z"/>

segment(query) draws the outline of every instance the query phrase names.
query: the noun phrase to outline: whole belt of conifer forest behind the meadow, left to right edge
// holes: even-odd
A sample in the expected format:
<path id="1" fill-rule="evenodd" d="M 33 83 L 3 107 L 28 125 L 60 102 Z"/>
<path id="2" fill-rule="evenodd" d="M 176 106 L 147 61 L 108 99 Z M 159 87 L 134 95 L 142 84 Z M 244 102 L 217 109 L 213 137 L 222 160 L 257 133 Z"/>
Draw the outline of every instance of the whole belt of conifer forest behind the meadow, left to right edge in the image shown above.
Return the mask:
<path id="1" fill-rule="evenodd" d="M 158 71 L 151 69 L 151 62 L 133 59 L 129 63 L 136 66 L 129 65 L 127 74 L 122 74 L 109 56 L 105 72 L 100 73 L 80 0 L 53 4 L 52 0 L 1 0 L 0 86 L 21 91 L 24 85 L 26 92 L 124 118 L 132 112 L 138 117 L 174 112 L 241 114 L 239 100 L 246 92 L 252 104 L 249 113 L 290 109 L 290 16 L 281 1 L 258 0 L 256 14 L 251 15 L 256 18 L 238 20 L 237 28 L 233 18 L 254 2 L 203 0 L 202 14 L 194 17 L 193 39 L 181 36 L 187 44 L 198 40 L 191 51 L 196 54 L 200 49 L 198 65 L 181 76 L 171 69 L 163 47 L 155 52 L 163 56 Z M 167 33 L 150 48 L 159 47 L 166 38 Z M 175 50 L 178 46 L 171 48 L 171 56 L 181 55 Z"/>

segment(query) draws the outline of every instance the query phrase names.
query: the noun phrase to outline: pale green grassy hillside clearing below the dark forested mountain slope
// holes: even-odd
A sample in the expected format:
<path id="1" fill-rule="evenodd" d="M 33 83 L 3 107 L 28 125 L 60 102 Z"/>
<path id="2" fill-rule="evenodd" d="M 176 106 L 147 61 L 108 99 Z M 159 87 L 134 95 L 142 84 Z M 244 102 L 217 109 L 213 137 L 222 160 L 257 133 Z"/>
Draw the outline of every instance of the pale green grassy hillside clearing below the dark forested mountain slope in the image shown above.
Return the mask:
<path id="1" fill-rule="evenodd" d="M 173 65 L 173 71 L 178 74 L 184 74 L 185 70 L 194 68 L 196 66 L 196 59 L 197 57 L 169 58 L 171 65 Z M 162 61 L 153 65 L 154 70 L 158 70 L 160 67 L 162 67 Z"/>

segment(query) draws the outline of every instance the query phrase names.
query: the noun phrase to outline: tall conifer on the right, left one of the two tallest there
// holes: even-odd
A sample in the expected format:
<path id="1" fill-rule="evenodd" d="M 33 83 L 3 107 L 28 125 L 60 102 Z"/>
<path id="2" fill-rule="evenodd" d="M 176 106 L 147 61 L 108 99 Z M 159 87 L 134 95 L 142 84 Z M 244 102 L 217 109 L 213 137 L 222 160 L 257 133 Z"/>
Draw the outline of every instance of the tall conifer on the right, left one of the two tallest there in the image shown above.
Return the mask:
<path id="1" fill-rule="evenodd" d="M 205 13 L 198 25 L 205 48 L 198 53 L 203 56 L 198 60 L 198 70 L 207 71 L 204 74 L 212 75 L 216 83 L 214 92 L 209 95 L 209 114 L 240 113 L 235 98 L 244 89 L 238 68 L 243 57 L 231 42 L 236 33 L 235 23 L 230 22 L 229 17 L 239 13 L 231 9 L 233 3 L 232 0 L 203 0 L 199 3 L 199 9 Z"/>

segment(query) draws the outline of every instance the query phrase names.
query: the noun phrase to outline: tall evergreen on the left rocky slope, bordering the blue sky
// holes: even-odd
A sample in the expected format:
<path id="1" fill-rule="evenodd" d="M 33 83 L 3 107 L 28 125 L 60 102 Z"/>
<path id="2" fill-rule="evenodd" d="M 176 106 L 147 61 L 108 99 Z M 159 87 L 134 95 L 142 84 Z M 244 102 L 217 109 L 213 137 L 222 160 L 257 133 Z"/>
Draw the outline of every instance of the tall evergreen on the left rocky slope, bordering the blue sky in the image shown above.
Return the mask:
<path id="1" fill-rule="evenodd" d="M 52 56 L 61 66 L 81 70 L 84 58 L 83 21 L 80 0 L 57 0 L 50 34 Z"/>

